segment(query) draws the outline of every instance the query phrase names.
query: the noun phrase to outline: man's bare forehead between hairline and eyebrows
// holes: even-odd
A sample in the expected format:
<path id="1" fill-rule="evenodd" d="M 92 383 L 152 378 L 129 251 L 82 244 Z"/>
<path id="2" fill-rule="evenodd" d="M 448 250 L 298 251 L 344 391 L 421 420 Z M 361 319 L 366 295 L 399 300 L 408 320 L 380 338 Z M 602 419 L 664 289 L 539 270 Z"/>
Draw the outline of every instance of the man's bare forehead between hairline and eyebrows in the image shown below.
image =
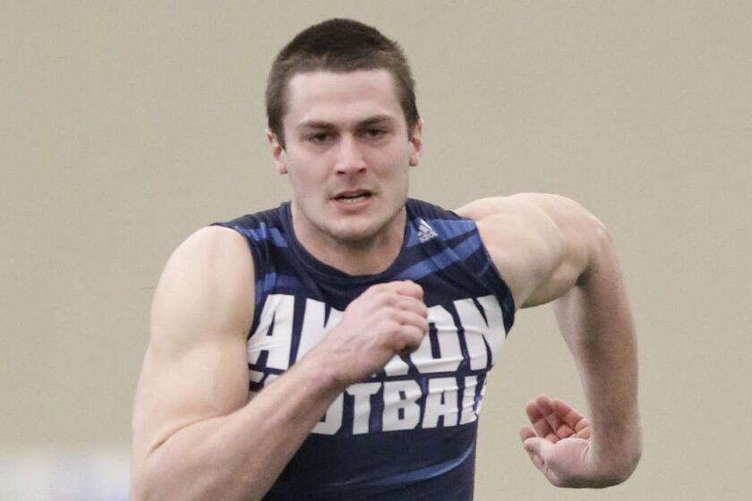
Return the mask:
<path id="1" fill-rule="evenodd" d="M 373 115 L 401 118 L 397 86 L 388 70 L 297 73 L 287 84 L 286 126 L 350 123 Z"/>

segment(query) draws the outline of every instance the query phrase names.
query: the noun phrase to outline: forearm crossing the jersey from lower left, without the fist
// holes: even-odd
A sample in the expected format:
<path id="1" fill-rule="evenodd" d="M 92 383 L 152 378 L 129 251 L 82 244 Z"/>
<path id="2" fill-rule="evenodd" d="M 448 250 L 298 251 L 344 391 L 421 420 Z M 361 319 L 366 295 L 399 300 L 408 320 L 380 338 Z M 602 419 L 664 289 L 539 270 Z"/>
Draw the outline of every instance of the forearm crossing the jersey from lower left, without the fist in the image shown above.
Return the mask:
<path id="1" fill-rule="evenodd" d="M 134 461 L 134 499 L 260 499 L 343 391 L 315 355 L 243 408 L 177 430 Z"/>

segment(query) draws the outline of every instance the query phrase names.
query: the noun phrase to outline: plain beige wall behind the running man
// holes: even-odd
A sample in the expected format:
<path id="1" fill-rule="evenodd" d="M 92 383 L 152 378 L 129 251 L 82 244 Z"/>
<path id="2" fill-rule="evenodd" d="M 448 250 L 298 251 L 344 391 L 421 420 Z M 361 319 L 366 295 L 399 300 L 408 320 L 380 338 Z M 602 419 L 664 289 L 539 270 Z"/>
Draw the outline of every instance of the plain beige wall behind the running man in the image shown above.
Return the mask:
<path id="1" fill-rule="evenodd" d="M 555 491 L 518 443 L 534 395 L 585 407 L 544 307 L 518 315 L 492 373 L 476 499 L 747 499 L 740 1 L 0 2 L 0 466 L 37 468 L 30 481 L 42 468 L 59 494 L 75 488 L 65 454 L 125 457 L 161 267 L 202 225 L 286 200 L 266 74 L 298 30 L 335 16 L 397 38 L 414 65 L 414 197 L 568 195 L 611 228 L 627 277 L 645 430 L 633 478 Z M 113 464 L 122 489 L 127 463 Z"/>

